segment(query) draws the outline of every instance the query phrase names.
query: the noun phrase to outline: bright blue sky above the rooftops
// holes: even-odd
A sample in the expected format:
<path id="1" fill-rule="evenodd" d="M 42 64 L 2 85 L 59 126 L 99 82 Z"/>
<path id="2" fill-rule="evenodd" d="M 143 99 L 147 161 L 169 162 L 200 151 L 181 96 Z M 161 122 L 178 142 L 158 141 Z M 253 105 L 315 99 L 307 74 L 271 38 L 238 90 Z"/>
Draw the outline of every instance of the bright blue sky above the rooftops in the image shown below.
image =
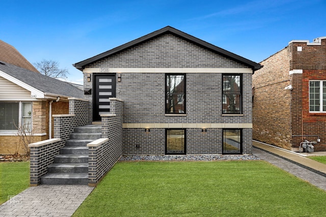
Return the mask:
<path id="1" fill-rule="evenodd" d="M 170 25 L 259 63 L 291 40 L 326 36 L 326 1 L 16 1 L 1 2 L 0 40 L 32 64 L 72 64 Z"/>

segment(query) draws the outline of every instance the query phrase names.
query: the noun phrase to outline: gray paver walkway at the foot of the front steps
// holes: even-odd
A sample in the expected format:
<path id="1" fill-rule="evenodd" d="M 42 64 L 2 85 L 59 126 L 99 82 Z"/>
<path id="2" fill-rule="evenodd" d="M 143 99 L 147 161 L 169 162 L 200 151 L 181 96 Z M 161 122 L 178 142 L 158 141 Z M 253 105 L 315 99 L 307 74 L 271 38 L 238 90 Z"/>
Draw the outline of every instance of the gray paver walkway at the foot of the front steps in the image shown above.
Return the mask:
<path id="1" fill-rule="evenodd" d="M 38 185 L 0 205 L 1 216 L 71 216 L 93 191 L 88 185 Z"/>

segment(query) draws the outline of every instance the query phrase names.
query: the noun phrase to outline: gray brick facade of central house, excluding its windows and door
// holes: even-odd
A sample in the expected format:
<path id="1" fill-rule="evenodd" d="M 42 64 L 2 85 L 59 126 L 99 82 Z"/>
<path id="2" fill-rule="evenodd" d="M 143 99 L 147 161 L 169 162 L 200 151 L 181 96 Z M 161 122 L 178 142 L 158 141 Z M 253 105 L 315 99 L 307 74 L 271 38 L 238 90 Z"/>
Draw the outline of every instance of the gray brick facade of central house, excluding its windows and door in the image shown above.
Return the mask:
<path id="1" fill-rule="evenodd" d="M 251 154 L 252 73 L 260 65 L 167 29 L 75 64 L 85 89 L 94 90 L 87 77 L 93 81 L 101 69 L 121 75 L 116 97 L 123 101 L 123 154 L 165 154 L 166 129 L 186 129 L 187 154 L 222 154 L 222 130 L 242 129 L 242 153 Z M 166 73 L 185 74 L 185 115 L 165 114 Z M 222 115 L 224 73 L 242 75 L 240 115 Z M 92 102 L 93 94 L 86 99 Z"/>

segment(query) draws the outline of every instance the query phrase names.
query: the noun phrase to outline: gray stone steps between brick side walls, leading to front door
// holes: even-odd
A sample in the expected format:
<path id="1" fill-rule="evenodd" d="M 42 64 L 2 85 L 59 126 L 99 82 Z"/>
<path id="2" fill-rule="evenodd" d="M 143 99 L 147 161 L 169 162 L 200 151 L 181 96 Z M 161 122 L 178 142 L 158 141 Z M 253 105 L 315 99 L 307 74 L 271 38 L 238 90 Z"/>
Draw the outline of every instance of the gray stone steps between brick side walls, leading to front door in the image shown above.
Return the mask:
<path id="1" fill-rule="evenodd" d="M 101 138 L 101 125 L 76 127 L 41 177 L 42 184 L 88 184 L 88 143 Z"/>

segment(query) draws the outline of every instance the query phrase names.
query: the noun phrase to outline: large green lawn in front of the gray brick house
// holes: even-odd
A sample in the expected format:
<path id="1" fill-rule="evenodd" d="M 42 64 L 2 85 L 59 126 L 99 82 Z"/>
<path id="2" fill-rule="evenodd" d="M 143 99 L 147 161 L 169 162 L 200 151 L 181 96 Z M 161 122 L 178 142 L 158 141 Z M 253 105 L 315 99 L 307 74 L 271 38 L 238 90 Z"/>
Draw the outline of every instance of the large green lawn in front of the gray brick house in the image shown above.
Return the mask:
<path id="1" fill-rule="evenodd" d="M 320 216 L 325 201 L 263 161 L 119 162 L 73 216 Z"/>

